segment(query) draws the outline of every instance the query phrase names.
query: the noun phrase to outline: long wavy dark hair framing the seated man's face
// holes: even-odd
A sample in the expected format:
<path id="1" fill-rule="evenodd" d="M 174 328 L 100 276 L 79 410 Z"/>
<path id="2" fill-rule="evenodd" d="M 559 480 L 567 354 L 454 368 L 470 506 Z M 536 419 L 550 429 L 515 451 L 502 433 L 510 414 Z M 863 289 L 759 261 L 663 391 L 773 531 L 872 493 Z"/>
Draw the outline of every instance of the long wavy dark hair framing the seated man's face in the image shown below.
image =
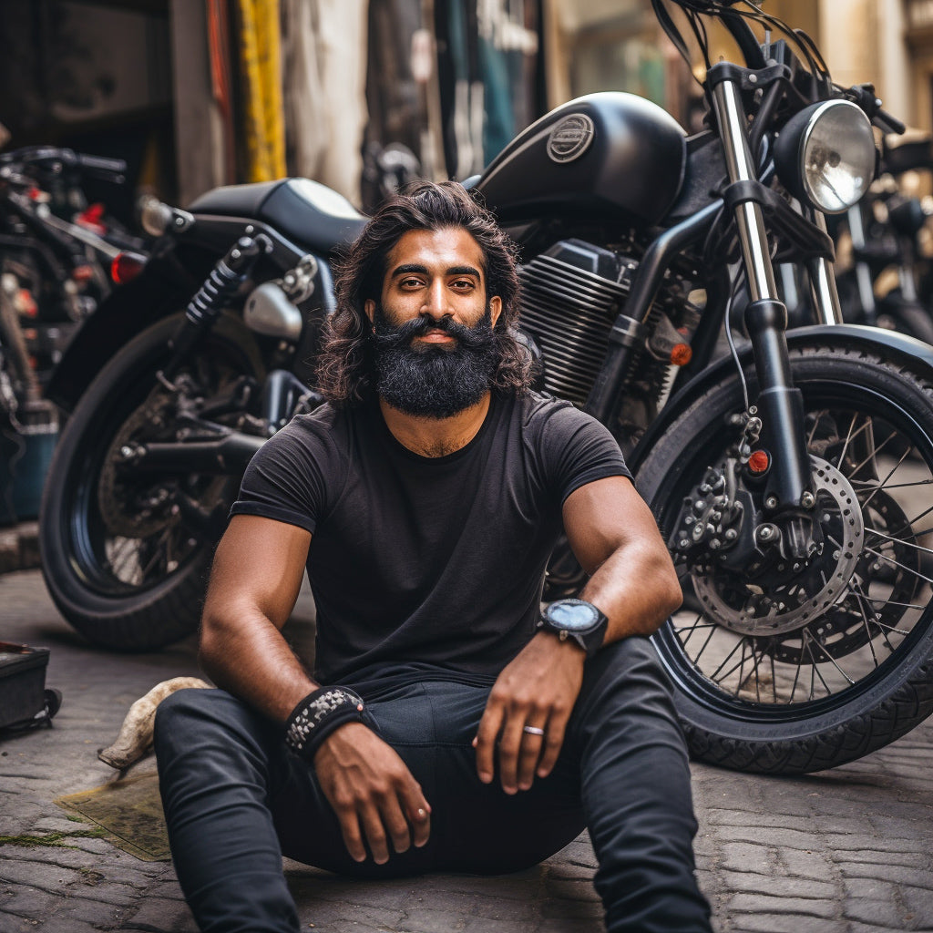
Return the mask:
<path id="1" fill-rule="evenodd" d="M 386 203 L 337 263 L 337 310 L 325 325 L 316 361 L 316 388 L 328 401 L 352 405 L 372 392 L 375 364 L 365 304 L 367 299 L 381 299 L 389 253 L 410 230 L 448 228 L 466 230 L 479 244 L 487 299 L 502 299 L 494 327 L 497 363 L 490 387 L 521 393 L 531 383 L 531 355 L 515 335 L 515 244 L 462 185 L 419 181 Z"/>

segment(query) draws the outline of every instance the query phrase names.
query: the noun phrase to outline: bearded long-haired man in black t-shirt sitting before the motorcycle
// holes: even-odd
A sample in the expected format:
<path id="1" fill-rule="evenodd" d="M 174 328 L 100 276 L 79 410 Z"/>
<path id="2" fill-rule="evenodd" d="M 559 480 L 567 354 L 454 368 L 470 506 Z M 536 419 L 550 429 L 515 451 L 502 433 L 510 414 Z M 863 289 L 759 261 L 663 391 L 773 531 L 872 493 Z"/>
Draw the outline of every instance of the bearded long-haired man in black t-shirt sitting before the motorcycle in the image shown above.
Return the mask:
<path id="1" fill-rule="evenodd" d="M 373 878 L 503 872 L 589 827 L 610 931 L 708 930 L 689 770 L 646 635 L 680 590 L 618 446 L 528 389 L 514 259 L 453 183 L 369 223 L 338 279 L 329 399 L 244 477 L 204 605 L 220 689 L 157 719 L 203 930 L 295 931 L 281 856 Z M 565 531 L 591 574 L 542 619 Z M 314 678 L 280 630 L 305 564 Z"/>

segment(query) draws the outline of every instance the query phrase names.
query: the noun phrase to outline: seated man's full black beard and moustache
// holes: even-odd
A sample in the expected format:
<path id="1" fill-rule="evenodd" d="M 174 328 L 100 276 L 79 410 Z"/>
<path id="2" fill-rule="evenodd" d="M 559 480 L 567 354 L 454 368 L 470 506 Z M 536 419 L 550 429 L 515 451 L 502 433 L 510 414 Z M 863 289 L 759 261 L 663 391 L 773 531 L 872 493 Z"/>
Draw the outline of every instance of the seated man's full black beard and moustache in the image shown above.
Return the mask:
<path id="1" fill-rule="evenodd" d="M 382 307 L 373 314 L 376 391 L 398 411 L 420 418 L 450 418 L 478 404 L 489 391 L 497 363 L 492 317 L 486 312 L 473 327 L 445 317 L 417 317 L 396 327 Z M 452 347 L 413 346 L 416 337 L 438 329 L 456 341 Z"/>

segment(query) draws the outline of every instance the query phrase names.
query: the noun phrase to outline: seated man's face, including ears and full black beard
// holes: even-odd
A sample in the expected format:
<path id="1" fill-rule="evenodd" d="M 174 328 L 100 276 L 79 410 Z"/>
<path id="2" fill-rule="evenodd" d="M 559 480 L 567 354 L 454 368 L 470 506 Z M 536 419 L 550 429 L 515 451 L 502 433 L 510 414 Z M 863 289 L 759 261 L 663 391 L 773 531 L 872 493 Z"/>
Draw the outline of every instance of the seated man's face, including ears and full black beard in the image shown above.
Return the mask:
<path id="1" fill-rule="evenodd" d="M 377 391 L 399 411 L 447 418 L 489 390 L 502 312 L 487 299 L 480 245 L 461 228 L 410 230 L 389 253 L 381 300 L 368 300 Z"/>

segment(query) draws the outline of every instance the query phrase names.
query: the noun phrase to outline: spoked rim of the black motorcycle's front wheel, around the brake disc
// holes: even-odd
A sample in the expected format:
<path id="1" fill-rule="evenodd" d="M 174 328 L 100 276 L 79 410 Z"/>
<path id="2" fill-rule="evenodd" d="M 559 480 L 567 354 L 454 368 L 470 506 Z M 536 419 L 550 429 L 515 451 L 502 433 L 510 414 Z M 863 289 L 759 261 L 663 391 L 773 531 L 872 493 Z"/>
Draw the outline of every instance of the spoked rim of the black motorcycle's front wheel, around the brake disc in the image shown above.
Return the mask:
<path id="1" fill-rule="evenodd" d="M 753 634 L 747 621 L 730 628 L 691 592 L 690 567 L 673 547 L 685 607 L 656 636 L 682 692 L 746 722 L 792 722 L 842 707 L 889 675 L 930 623 L 933 506 L 913 501 L 926 493 L 928 502 L 933 491 L 929 433 L 870 386 L 798 380 L 798 387 L 810 453 L 849 481 L 861 512 L 862 550 L 842 592 L 814 619 L 776 634 Z M 694 439 L 689 465 L 655 496 L 662 529 L 672 528 L 684 495 L 715 459 L 697 452 L 724 453 L 730 440 L 718 422 Z M 873 450 L 870 463 L 853 455 L 860 447 Z"/>

